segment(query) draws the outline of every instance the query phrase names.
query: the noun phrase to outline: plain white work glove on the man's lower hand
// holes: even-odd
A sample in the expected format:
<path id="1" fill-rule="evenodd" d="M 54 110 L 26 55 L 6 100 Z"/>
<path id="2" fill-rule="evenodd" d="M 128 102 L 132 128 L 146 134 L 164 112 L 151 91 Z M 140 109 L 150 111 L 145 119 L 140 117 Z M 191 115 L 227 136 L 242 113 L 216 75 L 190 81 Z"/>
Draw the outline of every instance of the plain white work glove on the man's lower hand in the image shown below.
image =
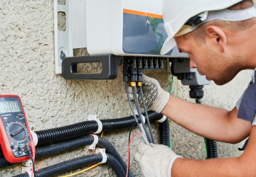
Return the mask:
<path id="1" fill-rule="evenodd" d="M 170 177 L 174 161 L 182 156 L 176 155 L 169 147 L 161 144 L 139 143 L 135 159 L 139 161 L 144 176 Z"/>

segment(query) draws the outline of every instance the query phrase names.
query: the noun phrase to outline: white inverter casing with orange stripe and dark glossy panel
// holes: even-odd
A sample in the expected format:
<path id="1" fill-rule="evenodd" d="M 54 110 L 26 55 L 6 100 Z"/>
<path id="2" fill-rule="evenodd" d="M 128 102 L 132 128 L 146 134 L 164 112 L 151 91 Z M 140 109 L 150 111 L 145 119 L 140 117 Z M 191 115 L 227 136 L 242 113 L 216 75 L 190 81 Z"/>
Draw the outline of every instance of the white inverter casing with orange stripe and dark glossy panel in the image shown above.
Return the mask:
<path id="1" fill-rule="evenodd" d="M 167 38 L 161 0 L 86 0 L 85 11 L 90 55 L 160 55 Z"/>

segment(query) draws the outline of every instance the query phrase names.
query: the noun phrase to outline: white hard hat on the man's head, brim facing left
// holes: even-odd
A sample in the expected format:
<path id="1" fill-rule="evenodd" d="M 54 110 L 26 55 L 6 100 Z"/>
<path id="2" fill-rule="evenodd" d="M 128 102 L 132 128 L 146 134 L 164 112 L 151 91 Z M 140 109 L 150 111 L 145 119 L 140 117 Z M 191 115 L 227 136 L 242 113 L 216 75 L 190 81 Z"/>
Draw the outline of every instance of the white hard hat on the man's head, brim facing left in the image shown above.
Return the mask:
<path id="1" fill-rule="evenodd" d="M 176 46 L 174 36 L 178 32 L 180 33 L 179 30 L 181 30 L 181 28 L 183 28 L 183 30 L 178 35 L 191 32 L 191 28 L 186 28 L 186 25 L 183 26 L 188 19 L 198 14 L 201 18 L 205 18 L 208 11 L 228 8 L 240 1 L 242 0 L 164 0 L 163 19 L 168 38 L 166 38 L 161 48 L 161 55 L 166 54 Z"/>

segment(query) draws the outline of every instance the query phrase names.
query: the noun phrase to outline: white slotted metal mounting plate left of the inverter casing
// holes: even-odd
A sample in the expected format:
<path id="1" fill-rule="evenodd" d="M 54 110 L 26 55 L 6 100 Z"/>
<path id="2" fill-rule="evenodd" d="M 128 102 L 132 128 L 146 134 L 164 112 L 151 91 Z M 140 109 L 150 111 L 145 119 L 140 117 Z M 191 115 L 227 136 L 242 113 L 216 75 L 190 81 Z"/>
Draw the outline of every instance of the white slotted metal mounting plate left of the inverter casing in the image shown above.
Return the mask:
<path id="1" fill-rule="evenodd" d="M 64 31 L 58 29 L 58 13 L 65 13 Z M 73 49 L 86 46 L 85 0 L 54 0 L 55 73 L 61 74 L 64 57 L 73 57 Z"/>

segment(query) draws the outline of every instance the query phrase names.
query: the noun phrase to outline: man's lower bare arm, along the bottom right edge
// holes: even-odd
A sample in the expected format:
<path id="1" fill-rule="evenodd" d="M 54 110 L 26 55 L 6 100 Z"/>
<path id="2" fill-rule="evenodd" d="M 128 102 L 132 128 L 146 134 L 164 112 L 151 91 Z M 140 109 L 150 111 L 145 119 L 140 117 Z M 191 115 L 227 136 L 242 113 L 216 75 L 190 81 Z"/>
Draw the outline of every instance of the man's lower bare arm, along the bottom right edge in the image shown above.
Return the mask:
<path id="1" fill-rule="evenodd" d="M 208 160 L 178 158 L 174 161 L 171 176 L 255 176 L 255 147 L 256 126 L 253 126 L 250 140 L 241 156 Z"/>

